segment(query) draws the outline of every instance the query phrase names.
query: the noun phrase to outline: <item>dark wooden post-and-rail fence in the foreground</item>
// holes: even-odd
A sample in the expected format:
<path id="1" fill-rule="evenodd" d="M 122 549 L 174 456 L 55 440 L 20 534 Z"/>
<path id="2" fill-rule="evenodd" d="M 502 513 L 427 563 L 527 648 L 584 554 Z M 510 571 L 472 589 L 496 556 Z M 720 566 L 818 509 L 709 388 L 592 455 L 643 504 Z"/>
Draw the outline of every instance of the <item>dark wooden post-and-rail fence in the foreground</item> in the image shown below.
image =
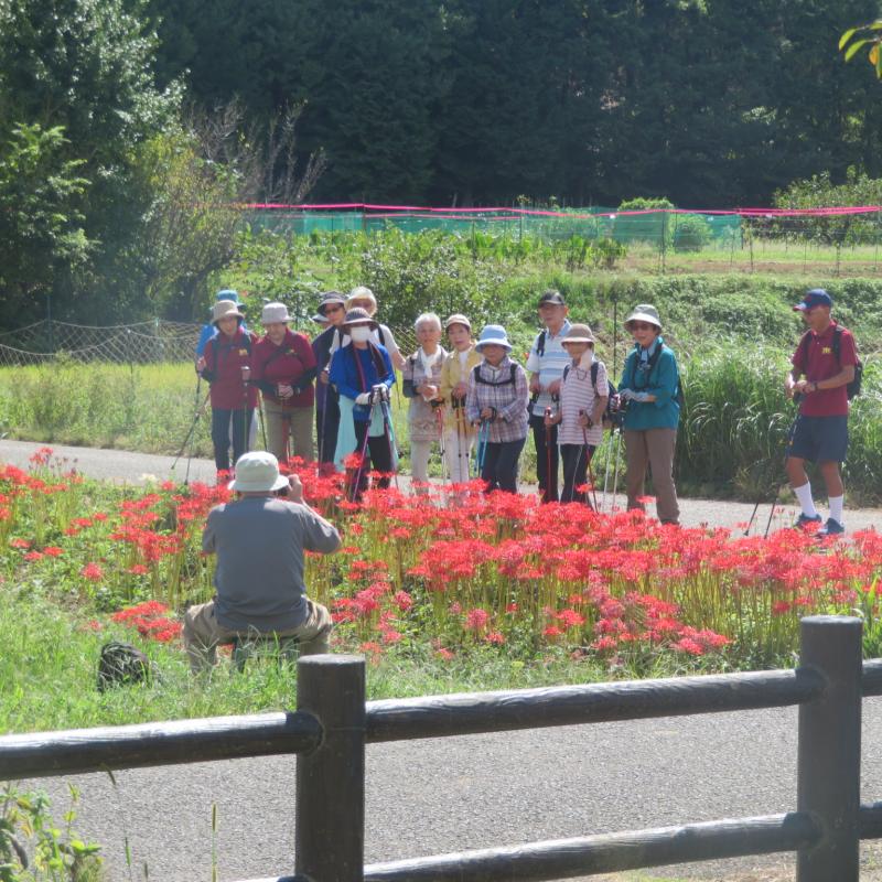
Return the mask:
<path id="1" fill-rule="evenodd" d="M 251 882 L 512 882 L 686 861 L 797 852 L 797 882 L 856 882 L 859 841 L 882 838 L 882 803 L 861 806 L 861 621 L 802 622 L 796 670 L 365 702 L 364 659 L 298 664 L 298 709 L 0 738 L 0 779 L 298 754 L 293 876 Z M 785 815 L 689 824 L 364 865 L 365 745 L 799 706 L 797 806 Z"/>

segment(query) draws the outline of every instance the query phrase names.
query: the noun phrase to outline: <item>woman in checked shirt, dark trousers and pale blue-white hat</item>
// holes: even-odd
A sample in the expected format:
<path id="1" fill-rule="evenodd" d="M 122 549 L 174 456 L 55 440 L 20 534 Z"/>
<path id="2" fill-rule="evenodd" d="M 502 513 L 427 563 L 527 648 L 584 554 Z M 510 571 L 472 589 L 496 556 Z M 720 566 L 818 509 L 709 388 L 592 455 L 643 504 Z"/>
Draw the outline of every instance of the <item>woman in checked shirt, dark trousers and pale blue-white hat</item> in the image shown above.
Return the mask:
<path id="1" fill-rule="evenodd" d="M 527 375 L 508 357 L 512 344 L 502 325 L 486 325 L 475 349 L 484 361 L 469 376 L 465 415 L 480 427 L 481 477 L 487 493 L 517 493 L 518 460 L 527 440 Z"/>

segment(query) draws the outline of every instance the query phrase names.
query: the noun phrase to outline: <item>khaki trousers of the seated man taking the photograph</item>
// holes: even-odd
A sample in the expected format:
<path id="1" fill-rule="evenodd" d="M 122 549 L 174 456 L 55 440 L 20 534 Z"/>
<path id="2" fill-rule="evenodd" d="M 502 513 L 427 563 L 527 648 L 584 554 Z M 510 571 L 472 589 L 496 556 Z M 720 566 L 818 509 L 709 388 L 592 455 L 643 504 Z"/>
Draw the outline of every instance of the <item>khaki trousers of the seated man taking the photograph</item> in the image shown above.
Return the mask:
<path id="1" fill-rule="evenodd" d="M 331 613 L 306 598 L 309 615 L 299 627 L 290 631 L 257 632 L 229 631 L 225 628 L 215 615 L 214 601 L 191 606 L 184 614 L 184 648 L 190 657 L 190 667 L 194 674 L 205 670 L 217 664 L 217 646 L 229 643 L 234 637 L 298 637 L 300 639 L 300 655 L 323 655 L 330 652 L 330 637 L 334 623 Z"/>

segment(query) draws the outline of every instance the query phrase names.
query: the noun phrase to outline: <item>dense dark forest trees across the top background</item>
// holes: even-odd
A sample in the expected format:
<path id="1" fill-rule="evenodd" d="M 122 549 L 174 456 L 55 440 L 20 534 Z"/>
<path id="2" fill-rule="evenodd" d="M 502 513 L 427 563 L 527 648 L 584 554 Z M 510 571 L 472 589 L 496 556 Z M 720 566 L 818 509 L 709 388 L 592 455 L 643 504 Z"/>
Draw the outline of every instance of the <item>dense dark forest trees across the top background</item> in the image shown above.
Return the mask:
<path id="1" fill-rule="evenodd" d="M 765 203 L 880 169 L 876 84 L 837 60 L 875 0 L 150 0 L 166 78 L 306 100 L 334 200 Z"/>

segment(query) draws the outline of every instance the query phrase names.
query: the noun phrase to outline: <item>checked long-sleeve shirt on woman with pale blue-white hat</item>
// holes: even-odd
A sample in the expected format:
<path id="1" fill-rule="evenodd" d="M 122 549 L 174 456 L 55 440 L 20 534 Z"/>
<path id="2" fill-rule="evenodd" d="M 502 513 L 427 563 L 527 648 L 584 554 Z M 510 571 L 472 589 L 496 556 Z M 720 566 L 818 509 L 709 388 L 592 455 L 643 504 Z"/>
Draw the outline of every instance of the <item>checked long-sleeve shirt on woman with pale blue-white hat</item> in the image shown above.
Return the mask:
<path id="1" fill-rule="evenodd" d="M 478 383 L 478 376 L 487 381 Z M 487 438 L 492 444 L 519 441 L 527 437 L 528 402 L 527 375 L 524 368 L 507 355 L 499 362 L 498 367 L 482 362 L 472 368 L 469 375 L 465 415 L 470 422 L 474 422 L 481 419 L 481 411 L 485 407 L 496 408 L 496 419 L 490 424 Z"/>

